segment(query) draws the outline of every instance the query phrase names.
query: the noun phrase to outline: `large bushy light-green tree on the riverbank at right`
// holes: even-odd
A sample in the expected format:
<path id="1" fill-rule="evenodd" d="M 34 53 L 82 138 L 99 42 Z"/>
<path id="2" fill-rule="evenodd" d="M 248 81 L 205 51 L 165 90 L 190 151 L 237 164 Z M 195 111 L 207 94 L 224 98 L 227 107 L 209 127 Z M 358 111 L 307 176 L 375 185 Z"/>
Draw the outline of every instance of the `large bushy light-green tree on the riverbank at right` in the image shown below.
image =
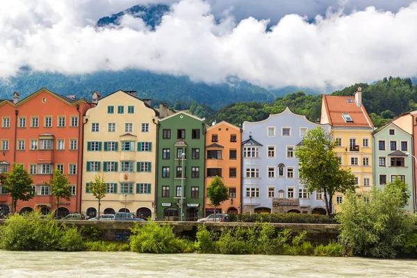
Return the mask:
<path id="1" fill-rule="evenodd" d="M 404 215 L 404 191 L 399 187 L 373 188 L 349 193 L 336 215 L 341 223 L 339 241 L 345 253 L 393 258 L 411 235 L 414 216 Z"/>

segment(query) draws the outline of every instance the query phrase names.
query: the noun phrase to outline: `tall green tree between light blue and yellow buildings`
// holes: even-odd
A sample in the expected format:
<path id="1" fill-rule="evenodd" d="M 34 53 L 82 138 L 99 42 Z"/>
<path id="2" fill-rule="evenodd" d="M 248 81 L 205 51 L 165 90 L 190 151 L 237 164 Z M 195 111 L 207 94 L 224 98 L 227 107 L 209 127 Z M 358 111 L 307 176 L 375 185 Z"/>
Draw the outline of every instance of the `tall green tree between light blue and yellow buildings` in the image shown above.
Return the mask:
<path id="1" fill-rule="evenodd" d="M 332 213 L 334 193 L 354 192 L 354 174 L 341 168 L 333 152 L 336 147 L 331 133 L 321 127 L 311 129 L 295 149 L 299 160 L 300 180 L 309 193 L 321 190 L 324 193 L 327 215 Z"/>

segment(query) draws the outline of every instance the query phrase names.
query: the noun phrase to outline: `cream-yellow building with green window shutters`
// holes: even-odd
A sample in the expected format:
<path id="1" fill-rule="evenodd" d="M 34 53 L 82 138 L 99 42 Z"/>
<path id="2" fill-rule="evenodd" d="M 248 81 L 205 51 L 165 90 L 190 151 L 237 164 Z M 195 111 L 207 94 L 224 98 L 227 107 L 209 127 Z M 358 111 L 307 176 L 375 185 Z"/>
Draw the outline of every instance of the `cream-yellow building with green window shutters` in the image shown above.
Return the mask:
<path id="1" fill-rule="evenodd" d="M 94 92 L 84 117 L 81 210 L 97 215 L 98 201 L 87 183 L 103 175 L 106 197 L 100 214 L 127 211 L 141 218 L 154 216 L 156 133 L 158 112 L 136 92 L 113 92 L 100 99 Z"/>

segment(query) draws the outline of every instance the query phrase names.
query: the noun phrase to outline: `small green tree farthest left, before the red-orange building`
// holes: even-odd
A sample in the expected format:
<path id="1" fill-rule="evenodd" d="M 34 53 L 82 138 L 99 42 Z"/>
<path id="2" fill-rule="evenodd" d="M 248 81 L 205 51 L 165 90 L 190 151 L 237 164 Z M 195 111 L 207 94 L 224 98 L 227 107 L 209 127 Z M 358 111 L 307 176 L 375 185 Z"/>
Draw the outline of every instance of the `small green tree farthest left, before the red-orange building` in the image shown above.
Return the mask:
<path id="1" fill-rule="evenodd" d="M 22 164 L 13 163 L 12 172 L 3 179 L 4 189 L 12 197 L 12 213 L 16 212 L 17 201 L 28 201 L 35 195 L 31 193 L 33 179 Z"/>

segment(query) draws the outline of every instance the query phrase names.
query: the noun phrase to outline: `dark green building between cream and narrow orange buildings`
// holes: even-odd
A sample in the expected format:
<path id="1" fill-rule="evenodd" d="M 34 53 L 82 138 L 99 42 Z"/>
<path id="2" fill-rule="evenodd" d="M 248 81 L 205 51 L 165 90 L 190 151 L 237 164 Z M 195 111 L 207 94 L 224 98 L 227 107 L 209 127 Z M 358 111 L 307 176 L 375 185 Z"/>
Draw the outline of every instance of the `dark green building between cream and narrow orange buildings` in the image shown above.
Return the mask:
<path id="1" fill-rule="evenodd" d="M 159 220 L 181 220 L 181 205 L 182 220 L 193 221 L 204 215 L 205 127 L 204 119 L 183 112 L 159 122 L 156 182 Z"/>

